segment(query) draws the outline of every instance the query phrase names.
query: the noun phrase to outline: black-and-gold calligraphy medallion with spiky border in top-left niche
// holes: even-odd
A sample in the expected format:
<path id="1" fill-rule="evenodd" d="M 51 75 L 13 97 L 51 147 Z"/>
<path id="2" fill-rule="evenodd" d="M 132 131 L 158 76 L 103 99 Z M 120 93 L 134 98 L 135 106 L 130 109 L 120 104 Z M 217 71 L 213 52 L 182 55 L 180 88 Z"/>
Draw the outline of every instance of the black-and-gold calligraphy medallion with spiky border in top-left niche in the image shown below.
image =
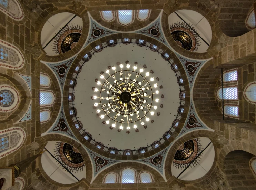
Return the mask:
<path id="1" fill-rule="evenodd" d="M 53 39 L 53 50 L 57 54 L 62 54 L 73 49 L 80 39 L 82 27 L 80 25 L 69 24 Z"/>

